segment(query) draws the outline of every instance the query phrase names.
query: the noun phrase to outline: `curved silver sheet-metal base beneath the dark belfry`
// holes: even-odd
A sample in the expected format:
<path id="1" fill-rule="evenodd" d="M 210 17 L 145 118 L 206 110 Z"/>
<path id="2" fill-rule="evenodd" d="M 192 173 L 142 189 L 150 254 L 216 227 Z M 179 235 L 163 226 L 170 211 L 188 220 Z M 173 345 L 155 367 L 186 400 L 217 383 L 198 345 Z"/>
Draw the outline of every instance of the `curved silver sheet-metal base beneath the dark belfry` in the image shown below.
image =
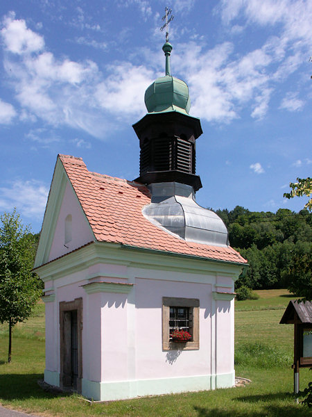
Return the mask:
<path id="1" fill-rule="evenodd" d="M 176 182 L 152 183 L 145 217 L 158 227 L 189 242 L 227 246 L 227 228 L 216 213 L 199 206 L 193 187 Z"/>

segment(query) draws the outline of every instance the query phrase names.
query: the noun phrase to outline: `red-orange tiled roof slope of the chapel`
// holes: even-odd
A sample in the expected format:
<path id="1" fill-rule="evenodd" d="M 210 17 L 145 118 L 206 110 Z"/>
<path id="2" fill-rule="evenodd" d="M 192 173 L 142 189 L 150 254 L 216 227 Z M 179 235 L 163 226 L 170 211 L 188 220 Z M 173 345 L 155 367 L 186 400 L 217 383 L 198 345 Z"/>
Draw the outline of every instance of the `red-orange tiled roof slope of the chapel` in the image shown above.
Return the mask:
<path id="1" fill-rule="evenodd" d="M 187 242 L 150 223 L 142 208 L 150 204 L 146 186 L 89 172 L 82 158 L 59 155 L 96 240 L 220 261 L 246 263 L 232 247 Z"/>

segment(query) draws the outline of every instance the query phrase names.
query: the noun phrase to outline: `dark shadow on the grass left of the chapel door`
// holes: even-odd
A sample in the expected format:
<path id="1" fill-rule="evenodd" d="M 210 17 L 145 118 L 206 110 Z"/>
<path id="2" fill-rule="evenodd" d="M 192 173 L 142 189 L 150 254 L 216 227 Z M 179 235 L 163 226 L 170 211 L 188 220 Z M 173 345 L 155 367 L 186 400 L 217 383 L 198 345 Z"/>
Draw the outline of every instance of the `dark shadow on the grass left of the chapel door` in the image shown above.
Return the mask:
<path id="1" fill-rule="evenodd" d="M 1 400 L 20 400 L 22 398 L 55 398 L 67 397 L 70 393 L 44 391 L 37 383 L 43 379 L 42 374 L 0 375 Z"/>

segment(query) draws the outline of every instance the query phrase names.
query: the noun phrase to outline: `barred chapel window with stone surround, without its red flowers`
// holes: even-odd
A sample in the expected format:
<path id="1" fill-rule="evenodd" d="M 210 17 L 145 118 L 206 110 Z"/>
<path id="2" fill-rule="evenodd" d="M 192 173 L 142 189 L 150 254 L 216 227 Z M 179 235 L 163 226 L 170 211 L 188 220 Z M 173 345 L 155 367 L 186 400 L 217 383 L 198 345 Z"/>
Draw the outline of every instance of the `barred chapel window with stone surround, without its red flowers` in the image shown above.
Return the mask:
<path id="1" fill-rule="evenodd" d="M 190 341 L 174 342 L 175 329 L 191 334 Z M 162 299 L 162 349 L 199 349 L 199 300 L 195 298 L 163 297 Z"/>

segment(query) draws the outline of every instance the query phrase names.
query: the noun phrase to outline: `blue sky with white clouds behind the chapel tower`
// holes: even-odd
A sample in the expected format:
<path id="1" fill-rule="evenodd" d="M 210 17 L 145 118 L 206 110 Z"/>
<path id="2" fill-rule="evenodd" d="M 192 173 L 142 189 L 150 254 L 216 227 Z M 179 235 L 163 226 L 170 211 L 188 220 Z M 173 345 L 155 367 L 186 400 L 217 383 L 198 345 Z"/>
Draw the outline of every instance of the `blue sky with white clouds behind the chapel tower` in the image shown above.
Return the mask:
<path id="1" fill-rule="evenodd" d="M 139 175 L 132 124 L 171 70 L 200 117 L 197 174 L 206 207 L 299 211 L 283 194 L 311 177 L 312 1 L 11 0 L 0 5 L 0 213 L 40 231 L 57 154 L 91 171 Z"/>

